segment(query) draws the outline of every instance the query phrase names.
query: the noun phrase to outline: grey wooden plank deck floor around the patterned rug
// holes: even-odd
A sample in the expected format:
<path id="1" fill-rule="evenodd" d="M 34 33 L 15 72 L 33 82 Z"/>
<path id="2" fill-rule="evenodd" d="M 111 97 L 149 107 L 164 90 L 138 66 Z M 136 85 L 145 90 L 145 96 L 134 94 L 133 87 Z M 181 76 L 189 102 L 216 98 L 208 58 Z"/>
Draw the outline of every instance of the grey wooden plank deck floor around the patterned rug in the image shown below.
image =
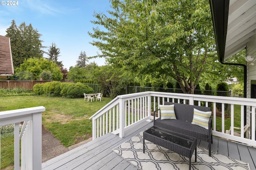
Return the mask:
<path id="1" fill-rule="evenodd" d="M 126 137 L 122 139 L 117 135 L 108 133 L 42 163 L 42 170 L 137 170 L 136 167 L 112 152 L 112 149 L 152 125 L 152 122 L 145 121 L 126 132 Z M 198 141 L 198 146 L 207 148 L 208 143 Z M 212 152 L 248 162 L 251 170 L 256 170 L 256 148 L 254 147 L 213 137 Z"/>

